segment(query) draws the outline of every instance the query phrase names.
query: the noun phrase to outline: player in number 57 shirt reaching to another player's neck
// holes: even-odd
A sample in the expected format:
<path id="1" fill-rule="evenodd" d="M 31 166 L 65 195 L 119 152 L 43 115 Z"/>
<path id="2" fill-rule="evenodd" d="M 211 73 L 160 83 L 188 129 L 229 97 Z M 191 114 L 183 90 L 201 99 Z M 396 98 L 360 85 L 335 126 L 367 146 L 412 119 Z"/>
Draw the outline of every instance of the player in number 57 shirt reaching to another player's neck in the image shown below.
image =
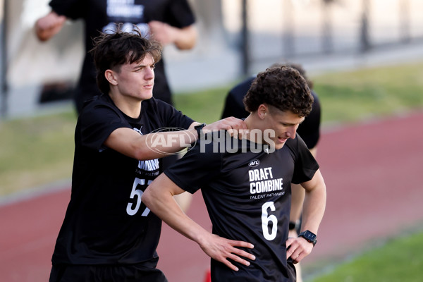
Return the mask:
<path id="1" fill-rule="evenodd" d="M 121 27 L 97 37 L 92 49 L 103 94 L 87 101 L 78 117 L 71 201 L 51 282 L 167 281 L 156 268 L 161 220 L 142 196 L 162 171 L 160 158 L 189 146 L 200 130 L 245 128 L 235 118 L 200 124 L 154 99 L 161 44 Z M 155 132 L 160 128 L 182 130 Z M 157 142 L 166 138 L 179 142 Z"/>

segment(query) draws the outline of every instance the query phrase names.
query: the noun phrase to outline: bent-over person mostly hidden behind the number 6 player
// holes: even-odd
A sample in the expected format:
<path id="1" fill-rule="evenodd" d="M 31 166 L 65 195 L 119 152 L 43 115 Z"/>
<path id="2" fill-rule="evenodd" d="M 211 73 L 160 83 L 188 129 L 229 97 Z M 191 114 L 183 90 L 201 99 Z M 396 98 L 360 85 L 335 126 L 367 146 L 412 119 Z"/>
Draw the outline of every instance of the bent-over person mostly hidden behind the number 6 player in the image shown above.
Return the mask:
<path id="1" fill-rule="evenodd" d="M 307 116 L 300 124 L 297 133 L 302 137 L 313 157 L 315 158 L 317 154 L 317 143 L 319 142 L 320 138 L 321 112 L 319 97 L 317 97 L 316 92 L 313 90 L 313 82 L 307 78 L 304 68 L 302 68 L 302 66 L 298 63 L 274 63 L 271 68 L 276 66 L 289 66 L 291 68 L 295 68 L 307 81 L 307 85 L 310 89 L 310 92 L 312 93 L 314 102 L 312 105 L 312 111 L 310 112 L 309 116 Z M 246 118 L 250 114 L 245 110 L 243 99 L 255 78 L 256 76 L 247 78 L 229 90 L 228 95 L 226 96 L 225 104 L 223 106 L 222 118 L 226 118 L 228 116 L 235 116 L 235 118 Z M 302 187 L 298 184 L 292 184 L 291 192 L 292 203 L 290 209 L 289 237 L 297 237 L 298 233 L 300 232 L 302 203 L 304 202 L 305 190 L 302 189 Z M 301 282 L 302 276 L 300 264 L 295 264 L 295 269 L 297 271 L 297 281 Z"/>

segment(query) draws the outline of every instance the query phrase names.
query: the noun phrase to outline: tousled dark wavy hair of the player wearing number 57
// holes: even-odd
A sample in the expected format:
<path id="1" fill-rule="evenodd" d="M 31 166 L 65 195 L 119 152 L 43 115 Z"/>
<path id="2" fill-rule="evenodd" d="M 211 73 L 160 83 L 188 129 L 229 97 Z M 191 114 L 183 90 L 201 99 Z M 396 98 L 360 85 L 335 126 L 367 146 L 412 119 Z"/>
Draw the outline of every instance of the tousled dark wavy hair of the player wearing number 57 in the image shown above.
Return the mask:
<path id="1" fill-rule="evenodd" d="M 95 37 L 94 48 L 90 50 L 97 71 L 97 86 L 104 94 L 110 91 L 109 81 L 104 77 L 107 70 L 118 67 L 115 71 L 120 71 L 123 64 L 142 61 L 147 54 L 152 55 L 155 63 L 161 59 L 161 44 L 144 37 L 136 25 L 132 32 L 124 32 L 122 23 L 115 27 L 116 30 L 106 30 Z"/>

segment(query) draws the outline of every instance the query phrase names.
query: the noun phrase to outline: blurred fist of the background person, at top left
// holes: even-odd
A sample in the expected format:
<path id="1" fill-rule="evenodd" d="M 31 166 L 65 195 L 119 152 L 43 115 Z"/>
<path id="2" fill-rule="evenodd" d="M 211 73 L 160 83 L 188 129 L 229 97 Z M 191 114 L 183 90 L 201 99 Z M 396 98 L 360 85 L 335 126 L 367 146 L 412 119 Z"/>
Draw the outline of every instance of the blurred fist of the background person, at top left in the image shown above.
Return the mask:
<path id="1" fill-rule="evenodd" d="M 47 41 L 62 29 L 65 22 L 65 16 L 59 16 L 56 12 L 51 11 L 35 22 L 35 34 L 39 40 Z"/>

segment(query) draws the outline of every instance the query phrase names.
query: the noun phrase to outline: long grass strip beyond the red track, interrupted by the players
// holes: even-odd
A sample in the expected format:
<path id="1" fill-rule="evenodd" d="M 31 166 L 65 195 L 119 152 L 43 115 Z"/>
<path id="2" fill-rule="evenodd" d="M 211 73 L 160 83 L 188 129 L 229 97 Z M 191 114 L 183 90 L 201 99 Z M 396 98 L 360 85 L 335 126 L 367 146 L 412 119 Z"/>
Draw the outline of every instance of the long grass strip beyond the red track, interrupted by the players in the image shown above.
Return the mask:
<path id="1" fill-rule="evenodd" d="M 313 77 L 323 125 L 351 123 L 423 108 L 423 63 Z M 234 83 L 235 84 L 235 83 Z M 220 118 L 232 85 L 178 93 L 175 104 L 196 121 Z M 75 114 L 0 120 L 0 197 L 71 178 Z"/>

